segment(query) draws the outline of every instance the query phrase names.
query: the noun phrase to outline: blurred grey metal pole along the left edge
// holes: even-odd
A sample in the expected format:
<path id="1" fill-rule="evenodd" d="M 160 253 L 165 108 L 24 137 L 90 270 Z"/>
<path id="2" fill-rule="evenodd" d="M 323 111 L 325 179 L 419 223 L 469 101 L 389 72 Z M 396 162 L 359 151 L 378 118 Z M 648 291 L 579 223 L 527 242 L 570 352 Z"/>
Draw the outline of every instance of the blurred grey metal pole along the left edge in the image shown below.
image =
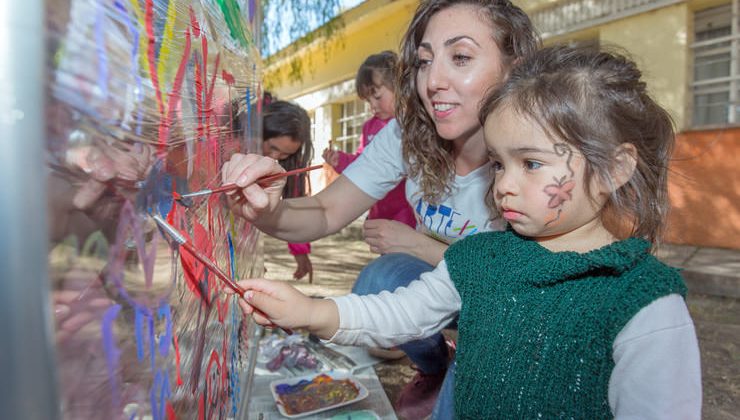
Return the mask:
<path id="1" fill-rule="evenodd" d="M 57 419 L 47 269 L 44 2 L 0 0 L 0 418 Z"/>

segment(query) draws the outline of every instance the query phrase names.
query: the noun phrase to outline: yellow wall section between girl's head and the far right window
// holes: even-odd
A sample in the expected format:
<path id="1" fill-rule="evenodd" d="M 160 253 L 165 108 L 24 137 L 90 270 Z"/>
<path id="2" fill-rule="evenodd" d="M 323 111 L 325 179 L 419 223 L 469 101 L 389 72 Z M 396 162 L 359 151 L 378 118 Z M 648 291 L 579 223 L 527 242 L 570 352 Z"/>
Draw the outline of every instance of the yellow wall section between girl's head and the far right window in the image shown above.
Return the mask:
<path id="1" fill-rule="evenodd" d="M 686 115 L 690 18 L 687 6 L 678 4 L 598 27 L 601 45 L 623 47 L 637 61 L 648 90 L 671 113 L 679 130 L 690 123 Z"/>

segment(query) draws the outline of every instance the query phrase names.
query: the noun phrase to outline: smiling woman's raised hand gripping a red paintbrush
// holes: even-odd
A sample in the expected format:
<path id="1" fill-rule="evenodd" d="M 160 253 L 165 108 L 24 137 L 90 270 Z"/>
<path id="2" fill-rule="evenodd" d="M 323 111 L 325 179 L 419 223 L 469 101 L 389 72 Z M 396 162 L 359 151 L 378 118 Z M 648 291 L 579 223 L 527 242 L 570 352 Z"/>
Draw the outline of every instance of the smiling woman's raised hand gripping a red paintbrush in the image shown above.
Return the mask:
<path id="1" fill-rule="evenodd" d="M 254 221 L 263 212 L 272 212 L 280 202 L 285 178 L 259 185 L 257 179 L 285 172 L 275 160 L 260 155 L 234 154 L 221 168 L 223 184 L 236 184 L 241 190 L 227 193 L 231 210 L 249 221 Z"/>

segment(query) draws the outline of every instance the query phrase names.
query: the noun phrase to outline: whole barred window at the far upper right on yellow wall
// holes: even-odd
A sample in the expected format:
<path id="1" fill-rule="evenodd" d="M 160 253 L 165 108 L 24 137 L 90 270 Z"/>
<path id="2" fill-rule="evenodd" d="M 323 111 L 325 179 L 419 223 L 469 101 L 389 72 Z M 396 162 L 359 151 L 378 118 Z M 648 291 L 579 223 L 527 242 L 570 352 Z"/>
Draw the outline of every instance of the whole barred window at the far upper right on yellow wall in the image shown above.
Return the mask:
<path id="1" fill-rule="evenodd" d="M 740 123 L 737 10 L 733 0 L 694 15 L 694 126 Z"/>

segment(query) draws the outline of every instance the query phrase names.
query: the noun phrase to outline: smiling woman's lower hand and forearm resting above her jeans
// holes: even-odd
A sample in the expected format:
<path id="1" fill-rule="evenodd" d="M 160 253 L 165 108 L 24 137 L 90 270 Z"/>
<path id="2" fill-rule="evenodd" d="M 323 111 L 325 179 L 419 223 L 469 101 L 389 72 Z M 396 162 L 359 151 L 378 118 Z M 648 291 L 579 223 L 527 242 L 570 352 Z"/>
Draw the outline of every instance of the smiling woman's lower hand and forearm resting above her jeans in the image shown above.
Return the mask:
<path id="1" fill-rule="evenodd" d="M 395 220 L 366 220 L 363 225 L 365 242 L 378 254 L 400 252 L 437 265 L 444 257 L 447 244 L 430 238 Z"/>

